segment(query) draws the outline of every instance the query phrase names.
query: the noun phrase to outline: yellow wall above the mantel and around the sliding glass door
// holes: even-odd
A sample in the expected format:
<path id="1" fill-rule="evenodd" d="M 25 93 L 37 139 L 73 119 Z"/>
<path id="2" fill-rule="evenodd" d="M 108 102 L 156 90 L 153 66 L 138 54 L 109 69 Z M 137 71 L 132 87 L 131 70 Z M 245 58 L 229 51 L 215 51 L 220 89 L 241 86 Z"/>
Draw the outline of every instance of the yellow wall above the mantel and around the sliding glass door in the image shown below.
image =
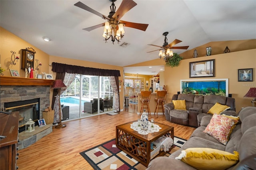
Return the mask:
<path id="1" fill-rule="evenodd" d="M 4 76 L 11 77 L 9 69 L 18 70 L 20 73 L 20 77 L 25 77 L 25 71 L 21 68 L 21 49 L 26 49 L 26 47 L 32 47 L 35 51 L 35 59 L 38 59 L 39 62 L 42 63 L 42 66 L 39 67 L 39 74 L 42 72 L 53 74 L 53 77 L 55 79 L 56 73 L 53 73 L 52 67 L 49 66 L 50 63 L 56 62 L 56 63 L 64 63 L 64 64 L 70 64 L 70 65 L 79 65 L 83 67 L 93 67 L 93 68 L 100 68 L 100 69 L 113 69 L 113 70 L 120 70 L 119 80 L 124 80 L 123 75 L 123 67 L 115 66 L 115 65 L 107 65 L 107 64 L 101 64 L 101 63 L 94 63 L 90 61 L 81 61 L 76 59 L 68 59 L 64 57 L 57 57 L 48 55 L 44 51 L 38 49 L 34 45 L 22 40 L 21 38 L 15 36 L 14 34 L 8 32 L 4 28 L 0 27 L 0 63 L 1 67 L 5 69 L 3 72 Z M 45 42 L 47 43 L 47 42 Z M 11 65 L 11 55 L 12 53 L 10 51 L 16 51 L 15 56 L 20 57 L 20 61 L 16 63 L 16 65 Z M 16 62 L 16 60 L 15 60 Z M 34 73 L 35 76 L 35 73 Z M 123 95 L 123 85 L 120 84 L 120 109 L 123 109 L 123 103 L 124 103 L 124 95 Z M 50 91 L 50 103 L 52 100 L 52 90 Z"/>

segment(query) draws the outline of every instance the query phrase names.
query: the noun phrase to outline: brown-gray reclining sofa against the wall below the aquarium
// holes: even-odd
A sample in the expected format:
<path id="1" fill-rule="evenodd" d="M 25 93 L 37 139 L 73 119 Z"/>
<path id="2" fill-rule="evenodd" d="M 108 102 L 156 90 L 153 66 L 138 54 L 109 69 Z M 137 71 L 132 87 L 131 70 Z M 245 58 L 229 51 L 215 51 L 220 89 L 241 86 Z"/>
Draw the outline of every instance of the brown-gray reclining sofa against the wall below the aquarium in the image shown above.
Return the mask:
<path id="1" fill-rule="evenodd" d="M 185 100 L 186 111 L 174 109 L 173 103 L 164 104 L 166 120 L 180 125 L 199 127 L 201 119 L 210 115 L 207 112 L 216 102 L 230 107 L 229 111 L 236 111 L 235 99 L 218 95 L 175 94 L 172 100 Z"/>

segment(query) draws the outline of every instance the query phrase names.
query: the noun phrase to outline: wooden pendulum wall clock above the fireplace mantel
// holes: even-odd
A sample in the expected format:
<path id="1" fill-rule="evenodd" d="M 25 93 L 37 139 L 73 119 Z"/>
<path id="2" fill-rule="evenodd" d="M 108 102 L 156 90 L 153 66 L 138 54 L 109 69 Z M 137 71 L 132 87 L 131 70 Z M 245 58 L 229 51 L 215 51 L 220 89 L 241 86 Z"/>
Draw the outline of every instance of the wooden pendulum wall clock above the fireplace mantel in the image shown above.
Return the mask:
<path id="1" fill-rule="evenodd" d="M 30 47 L 22 49 L 21 69 L 34 68 L 35 53 L 36 51 Z"/>

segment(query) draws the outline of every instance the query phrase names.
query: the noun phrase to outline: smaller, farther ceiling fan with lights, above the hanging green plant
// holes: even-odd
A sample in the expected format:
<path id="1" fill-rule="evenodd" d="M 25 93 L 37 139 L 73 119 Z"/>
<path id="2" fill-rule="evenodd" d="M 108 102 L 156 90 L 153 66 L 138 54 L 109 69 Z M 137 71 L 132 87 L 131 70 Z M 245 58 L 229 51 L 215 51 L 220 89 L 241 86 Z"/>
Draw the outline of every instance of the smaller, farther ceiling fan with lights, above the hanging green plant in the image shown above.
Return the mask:
<path id="1" fill-rule="evenodd" d="M 163 46 L 148 44 L 148 45 L 160 47 L 160 49 L 154 50 L 154 51 L 159 51 L 158 55 L 160 56 L 160 58 L 161 57 L 166 58 L 166 57 L 169 57 L 169 56 L 173 55 L 172 51 L 170 51 L 170 49 L 188 49 L 189 46 L 173 47 L 173 45 L 182 42 L 182 41 L 177 40 L 177 39 L 175 39 L 173 42 L 168 44 L 168 42 L 167 42 L 168 39 L 166 38 L 167 35 L 168 35 L 168 32 L 163 33 L 163 36 L 165 36 Z M 164 50 L 164 52 L 162 50 Z M 149 51 L 147 53 L 150 53 L 150 52 L 153 52 L 153 51 Z"/>

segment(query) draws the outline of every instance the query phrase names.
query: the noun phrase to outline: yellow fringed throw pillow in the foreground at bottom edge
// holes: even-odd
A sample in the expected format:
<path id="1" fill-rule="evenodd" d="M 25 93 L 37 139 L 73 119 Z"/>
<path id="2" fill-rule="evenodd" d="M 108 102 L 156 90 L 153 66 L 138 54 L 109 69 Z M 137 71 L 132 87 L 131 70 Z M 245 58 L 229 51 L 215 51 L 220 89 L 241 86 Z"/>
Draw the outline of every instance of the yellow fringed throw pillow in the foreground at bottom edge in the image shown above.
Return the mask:
<path id="1" fill-rule="evenodd" d="M 212 148 L 188 148 L 182 150 L 175 159 L 198 170 L 225 170 L 238 162 L 239 154 L 236 151 L 231 154 Z"/>

